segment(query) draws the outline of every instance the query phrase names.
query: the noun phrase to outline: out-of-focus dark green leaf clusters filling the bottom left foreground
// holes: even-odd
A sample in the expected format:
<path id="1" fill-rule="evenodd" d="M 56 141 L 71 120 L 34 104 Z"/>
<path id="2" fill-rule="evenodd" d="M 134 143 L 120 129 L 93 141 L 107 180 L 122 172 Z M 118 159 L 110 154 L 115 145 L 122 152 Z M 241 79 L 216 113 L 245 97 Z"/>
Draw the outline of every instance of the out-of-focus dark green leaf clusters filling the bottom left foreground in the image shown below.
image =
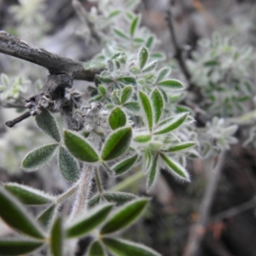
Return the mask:
<path id="1" fill-rule="evenodd" d="M 133 200 L 123 207 L 114 209 L 113 204 L 104 203 L 82 214 L 72 222 L 64 224 L 58 214 L 58 198 L 38 189 L 31 189 L 17 183 L 5 183 L 0 187 L 1 218 L 20 236 L 0 240 L 1 255 L 32 253 L 45 245 L 53 256 L 62 256 L 63 245 L 70 239 L 79 239 L 97 230 L 91 241 L 87 255 L 148 255 L 159 253 L 137 243 L 113 238 L 113 234 L 137 221 L 148 204 L 148 199 Z M 26 206 L 40 206 L 45 209 L 36 218 L 26 211 Z"/>

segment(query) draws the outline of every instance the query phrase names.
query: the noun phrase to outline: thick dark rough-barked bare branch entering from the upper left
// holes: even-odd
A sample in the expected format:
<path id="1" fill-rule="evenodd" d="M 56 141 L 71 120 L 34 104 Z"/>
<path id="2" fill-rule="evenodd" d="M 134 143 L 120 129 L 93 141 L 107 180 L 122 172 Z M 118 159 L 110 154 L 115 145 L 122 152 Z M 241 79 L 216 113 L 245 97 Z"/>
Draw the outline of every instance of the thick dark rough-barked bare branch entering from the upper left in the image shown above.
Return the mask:
<path id="1" fill-rule="evenodd" d="M 94 67 L 85 69 L 83 62 L 55 55 L 5 31 L 0 31 L 0 53 L 38 64 L 47 68 L 51 74 L 66 73 L 75 80 L 93 81 L 96 73 L 102 71 Z"/>

